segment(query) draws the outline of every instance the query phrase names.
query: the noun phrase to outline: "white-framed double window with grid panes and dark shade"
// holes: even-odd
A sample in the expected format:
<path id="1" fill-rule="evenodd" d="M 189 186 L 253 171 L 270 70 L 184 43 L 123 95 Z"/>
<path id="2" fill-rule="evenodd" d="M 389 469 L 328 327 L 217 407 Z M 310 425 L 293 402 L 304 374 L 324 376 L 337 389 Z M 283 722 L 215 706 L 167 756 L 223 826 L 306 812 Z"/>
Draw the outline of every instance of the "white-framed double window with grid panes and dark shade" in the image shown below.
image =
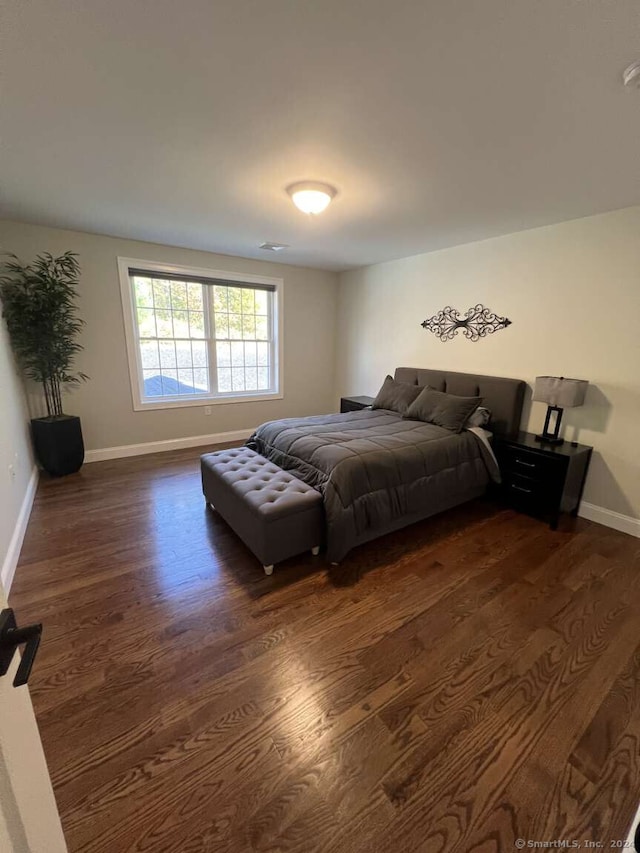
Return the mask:
<path id="1" fill-rule="evenodd" d="M 281 396 L 280 279 L 118 264 L 135 409 Z"/>

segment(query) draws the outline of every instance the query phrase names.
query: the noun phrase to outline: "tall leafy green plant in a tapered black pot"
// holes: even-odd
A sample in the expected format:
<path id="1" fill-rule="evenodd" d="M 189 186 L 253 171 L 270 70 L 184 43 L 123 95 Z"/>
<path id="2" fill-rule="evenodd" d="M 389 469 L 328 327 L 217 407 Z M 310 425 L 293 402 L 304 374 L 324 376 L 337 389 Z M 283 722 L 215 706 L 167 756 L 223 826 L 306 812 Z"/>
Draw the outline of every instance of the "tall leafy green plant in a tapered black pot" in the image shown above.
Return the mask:
<path id="1" fill-rule="evenodd" d="M 84 461 L 80 418 L 62 411 L 63 389 L 87 379 L 72 372 L 84 325 L 75 304 L 80 265 L 73 252 L 38 255 L 30 265 L 9 258 L 0 276 L 2 314 L 18 364 L 42 385 L 47 405 L 47 416 L 31 421 L 33 445 L 44 470 L 62 477 Z"/>

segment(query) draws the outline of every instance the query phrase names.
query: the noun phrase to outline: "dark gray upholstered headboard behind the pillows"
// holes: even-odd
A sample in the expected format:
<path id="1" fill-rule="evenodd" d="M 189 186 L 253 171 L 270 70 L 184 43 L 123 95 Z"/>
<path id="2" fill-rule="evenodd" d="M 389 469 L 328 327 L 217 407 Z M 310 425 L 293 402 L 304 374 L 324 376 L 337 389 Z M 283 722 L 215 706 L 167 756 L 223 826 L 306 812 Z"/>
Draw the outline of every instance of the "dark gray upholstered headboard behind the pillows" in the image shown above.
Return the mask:
<path id="1" fill-rule="evenodd" d="M 395 378 L 399 382 L 430 385 L 437 391 L 460 397 L 482 397 L 482 405 L 491 409 L 490 429 L 493 432 L 509 435 L 520 429 L 524 391 L 527 387 L 521 379 L 427 370 L 422 367 L 397 367 Z"/>

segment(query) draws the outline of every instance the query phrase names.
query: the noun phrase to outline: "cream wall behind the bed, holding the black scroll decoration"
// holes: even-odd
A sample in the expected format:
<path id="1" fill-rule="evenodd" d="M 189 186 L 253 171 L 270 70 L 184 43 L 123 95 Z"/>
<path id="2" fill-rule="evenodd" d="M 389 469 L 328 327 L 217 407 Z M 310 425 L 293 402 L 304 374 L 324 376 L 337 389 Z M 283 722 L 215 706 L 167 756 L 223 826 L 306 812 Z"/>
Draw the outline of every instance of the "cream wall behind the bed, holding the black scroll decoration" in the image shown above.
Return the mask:
<path id="1" fill-rule="evenodd" d="M 482 302 L 513 325 L 471 343 L 420 323 Z M 344 273 L 337 389 L 375 394 L 398 365 L 591 383 L 566 434 L 592 444 L 585 500 L 640 517 L 640 208 Z M 545 406 L 524 424 L 539 431 Z"/>

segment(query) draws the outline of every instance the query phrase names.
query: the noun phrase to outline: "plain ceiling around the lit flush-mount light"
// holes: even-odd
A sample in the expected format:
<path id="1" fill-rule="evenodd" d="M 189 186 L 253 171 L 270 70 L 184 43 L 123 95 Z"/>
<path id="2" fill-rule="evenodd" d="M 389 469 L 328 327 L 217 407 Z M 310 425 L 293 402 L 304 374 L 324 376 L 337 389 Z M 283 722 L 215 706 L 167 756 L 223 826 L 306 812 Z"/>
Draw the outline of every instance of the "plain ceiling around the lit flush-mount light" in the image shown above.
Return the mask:
<path id="1" fill-rule="evenodd" d="M 1 23 L 5 218 L 341 270 L 640 203 L 638 0 L 5 0 Z M 338 189 L 319 217 L 285 193 L 304 179 Z"/>

